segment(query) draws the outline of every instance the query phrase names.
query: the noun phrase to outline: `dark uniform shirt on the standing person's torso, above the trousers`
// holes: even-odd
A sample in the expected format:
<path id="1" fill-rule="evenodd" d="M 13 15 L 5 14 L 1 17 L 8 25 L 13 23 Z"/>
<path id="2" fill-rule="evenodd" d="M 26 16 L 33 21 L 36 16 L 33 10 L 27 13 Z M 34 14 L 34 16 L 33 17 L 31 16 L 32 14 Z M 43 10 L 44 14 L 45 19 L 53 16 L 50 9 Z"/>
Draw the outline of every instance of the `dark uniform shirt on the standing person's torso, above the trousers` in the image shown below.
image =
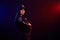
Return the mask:
<path id="1" fill-rule="evenodd" d="M 19 17 L 16 21 L 17 27 L 21 32 L 28 32 L 29 27 L 25 24 L 24 18 Z"/>

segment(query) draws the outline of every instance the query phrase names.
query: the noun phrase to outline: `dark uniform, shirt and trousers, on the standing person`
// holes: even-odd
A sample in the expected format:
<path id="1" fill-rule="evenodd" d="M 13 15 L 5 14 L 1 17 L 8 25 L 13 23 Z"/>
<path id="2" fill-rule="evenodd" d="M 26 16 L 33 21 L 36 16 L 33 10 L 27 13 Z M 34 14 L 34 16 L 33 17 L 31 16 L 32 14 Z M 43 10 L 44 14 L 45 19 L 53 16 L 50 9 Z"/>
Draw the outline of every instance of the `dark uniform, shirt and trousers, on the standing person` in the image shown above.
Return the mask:
<path id="1" fill-rule="evenodd" d="M 25 23 L 28 22 L 25 20 L 24 17 L 19 17 L 16 20 L 16 26 L 19 29 L 19 31 L 22 33 L 22 40 L 30 40 L 30 34 L 31 34 L 31 26 L 26 25 Z"/>

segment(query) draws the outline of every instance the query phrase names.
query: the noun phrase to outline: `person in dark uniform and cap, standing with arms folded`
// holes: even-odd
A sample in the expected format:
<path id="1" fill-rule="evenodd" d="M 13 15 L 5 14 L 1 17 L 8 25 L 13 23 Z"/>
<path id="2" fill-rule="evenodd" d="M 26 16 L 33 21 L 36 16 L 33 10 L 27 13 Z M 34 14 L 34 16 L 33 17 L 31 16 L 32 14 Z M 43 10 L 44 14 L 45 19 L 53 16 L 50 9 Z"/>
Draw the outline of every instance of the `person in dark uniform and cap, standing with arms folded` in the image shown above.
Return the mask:
<path id="1" fill-rule="evenodd" d="M 24 15 L 25 15 L 25 7 L 24 5 L 22 5 L 22 8 L 20 9 L 18 17 L 16 19 L 16 26 L 22 33 L 22 40 L 30 40 L 32 25 L 27 20 L 27 18 L 24 17 Z"/>

